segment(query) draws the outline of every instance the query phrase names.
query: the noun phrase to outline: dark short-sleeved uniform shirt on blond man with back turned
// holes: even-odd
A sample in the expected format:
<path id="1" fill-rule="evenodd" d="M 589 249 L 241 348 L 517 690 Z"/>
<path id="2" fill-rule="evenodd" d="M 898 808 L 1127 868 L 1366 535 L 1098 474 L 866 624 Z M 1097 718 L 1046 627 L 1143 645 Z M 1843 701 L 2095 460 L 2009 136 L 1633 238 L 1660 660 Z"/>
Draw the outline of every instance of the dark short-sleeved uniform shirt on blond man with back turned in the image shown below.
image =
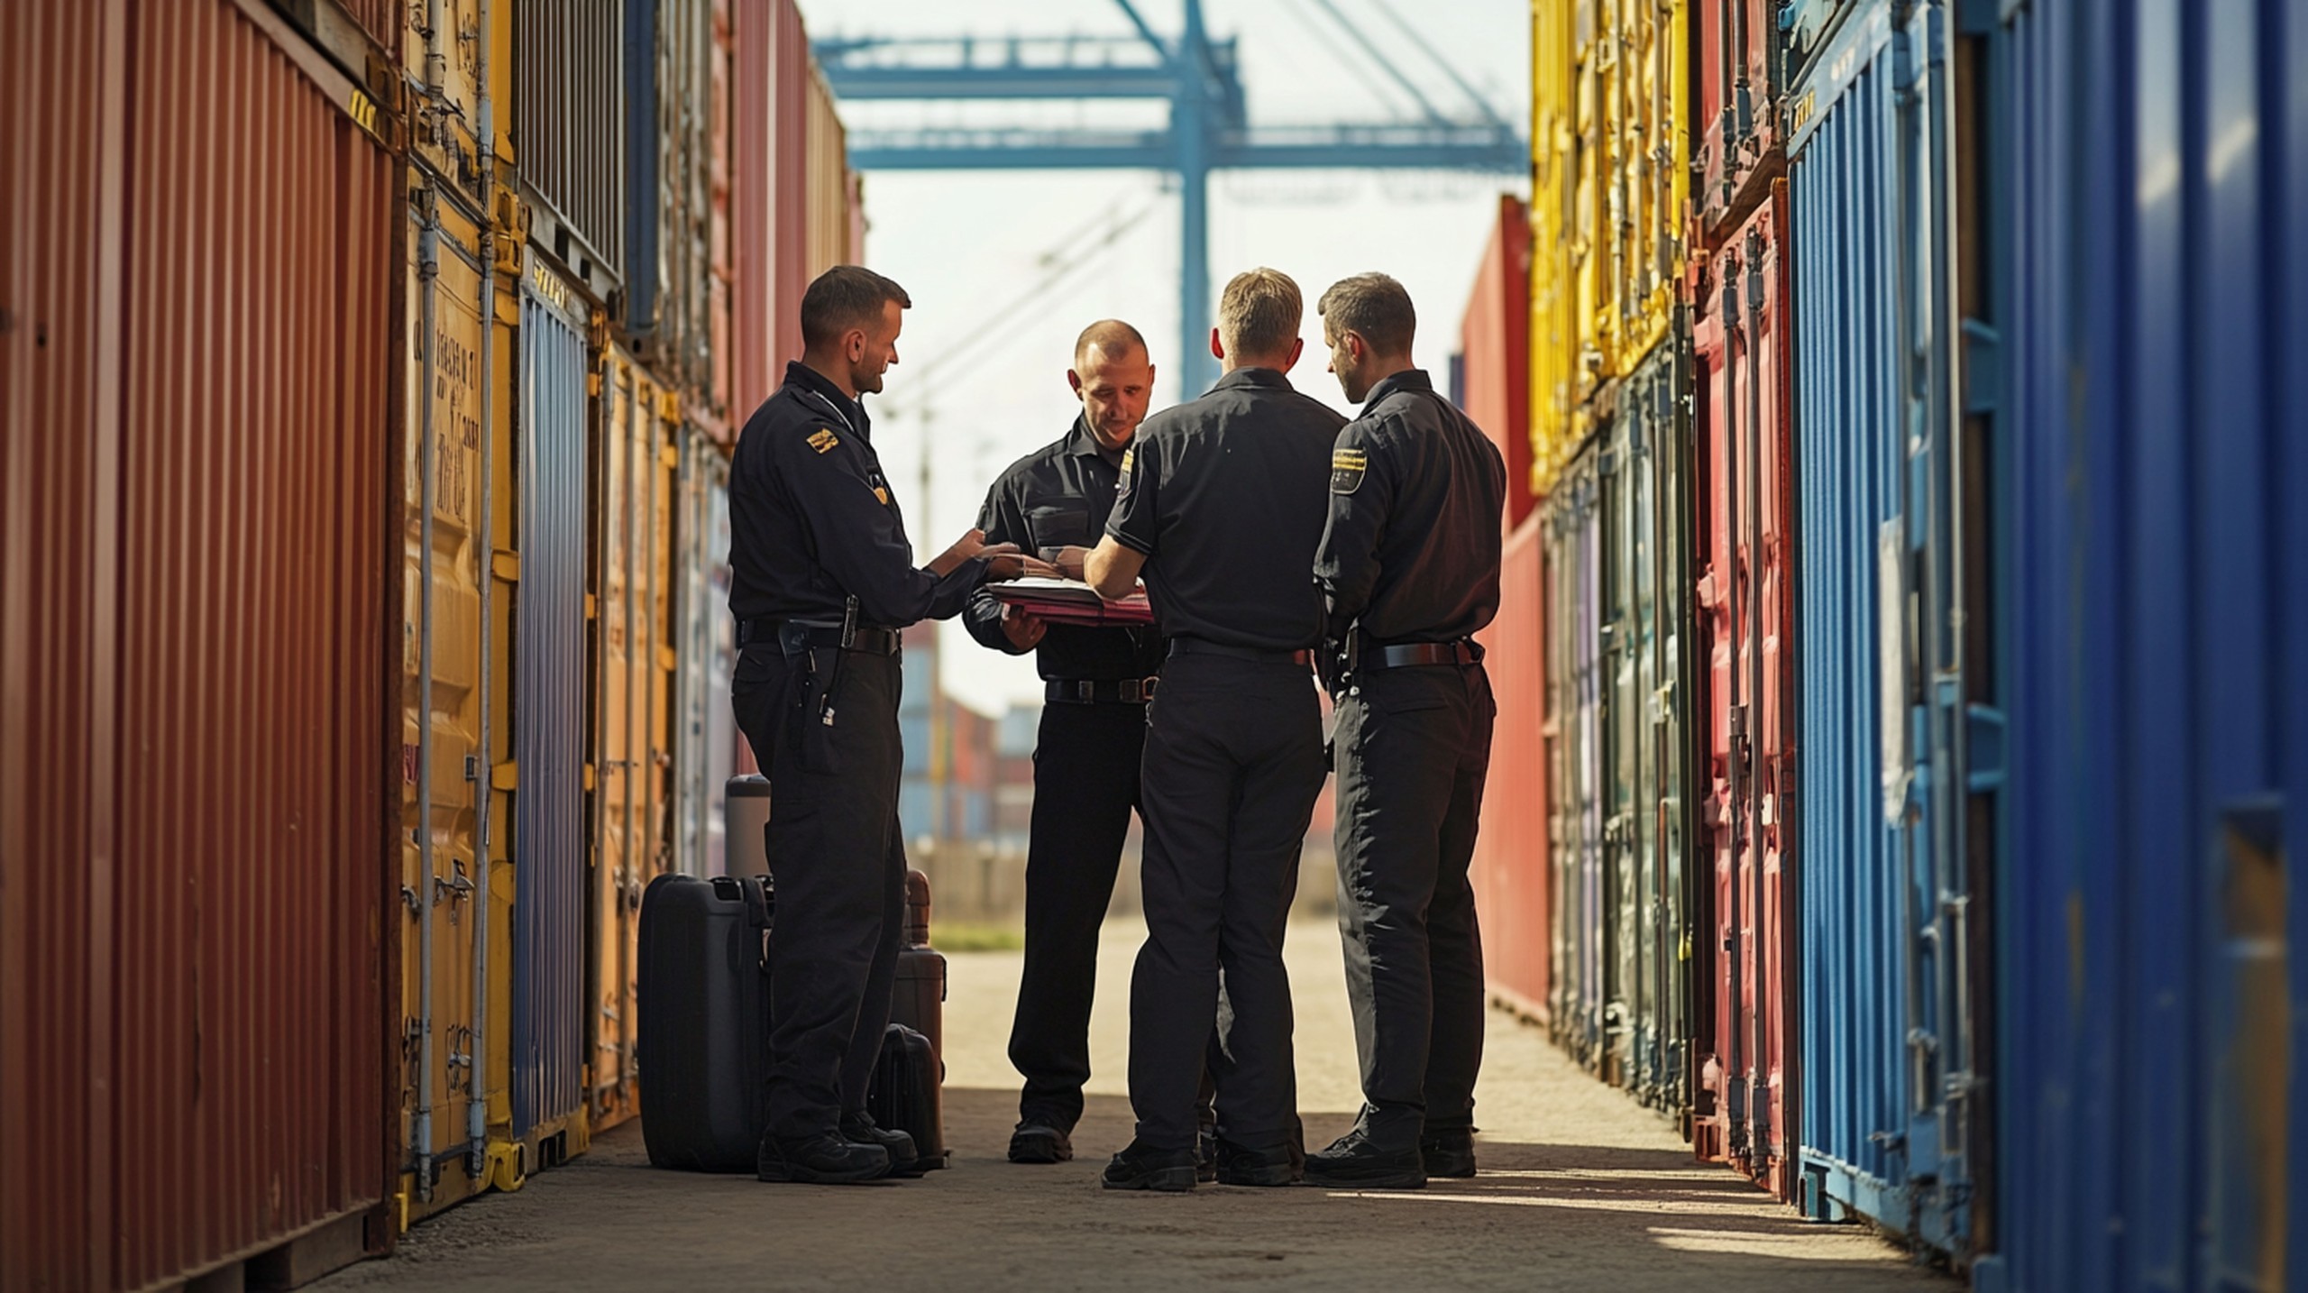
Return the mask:
<path id="1" fill-rule="evenodd" d="M 1332 441 L 1346 418 L 1269 367 L 1163 409 L 1122 455 L 1106 533 L 1147 554 L 1166 637 L 1304 651 L 1322 640 L 1309 570 L 1322 540 Z"/>

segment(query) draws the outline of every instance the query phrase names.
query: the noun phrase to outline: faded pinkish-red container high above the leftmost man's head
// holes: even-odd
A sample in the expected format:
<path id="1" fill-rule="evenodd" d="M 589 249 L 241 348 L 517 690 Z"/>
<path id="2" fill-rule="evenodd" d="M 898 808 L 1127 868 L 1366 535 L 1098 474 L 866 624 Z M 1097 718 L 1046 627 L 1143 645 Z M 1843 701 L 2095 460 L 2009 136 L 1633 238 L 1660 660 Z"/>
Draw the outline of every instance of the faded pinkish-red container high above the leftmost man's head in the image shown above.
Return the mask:
<path id="1" fill-rule="evenodd" d="M 863 256 L 863 199 L 849 171 L 833 90 L 810 58 L 794 0 L 732 0 L 736 129 L 732 136 L 729 418 L 743 423 L 801 358 L 801 293 Z"/>

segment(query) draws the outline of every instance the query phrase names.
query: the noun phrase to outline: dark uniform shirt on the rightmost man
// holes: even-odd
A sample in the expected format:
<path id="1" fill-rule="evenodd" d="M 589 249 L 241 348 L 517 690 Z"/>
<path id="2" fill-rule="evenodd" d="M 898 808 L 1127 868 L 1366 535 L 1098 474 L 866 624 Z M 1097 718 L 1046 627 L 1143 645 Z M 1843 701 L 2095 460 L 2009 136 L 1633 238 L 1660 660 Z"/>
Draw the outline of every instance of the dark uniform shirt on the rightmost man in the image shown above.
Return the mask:
<path id="1" fill-rule="evenodd" d="M 1452 642 L 1491 623 L 1507 464 L 1482 427 L 1403 369 L 1371 388 L 1329 466 L 1313 575 L 1334 633 Z"/>

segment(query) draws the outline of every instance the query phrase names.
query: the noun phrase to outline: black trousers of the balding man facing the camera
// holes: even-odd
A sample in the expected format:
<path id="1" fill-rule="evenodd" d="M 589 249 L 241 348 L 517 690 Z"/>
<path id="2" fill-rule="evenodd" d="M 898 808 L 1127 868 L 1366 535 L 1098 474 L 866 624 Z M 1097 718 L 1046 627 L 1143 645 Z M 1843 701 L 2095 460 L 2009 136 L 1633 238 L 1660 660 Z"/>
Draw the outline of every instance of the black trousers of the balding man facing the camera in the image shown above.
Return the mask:
<path id="1" fill-rule="evenodd" d="M 1025 857 L 1025 977 L 1009 1055 L 1025 1074 L 1018 1115 L 1059 1131 L 1082 1120 L 1099 924 L 1115 900 L 1138 808 L 1145 737 L 1142 704 L 1050 702 L 1041 711 Z"/>

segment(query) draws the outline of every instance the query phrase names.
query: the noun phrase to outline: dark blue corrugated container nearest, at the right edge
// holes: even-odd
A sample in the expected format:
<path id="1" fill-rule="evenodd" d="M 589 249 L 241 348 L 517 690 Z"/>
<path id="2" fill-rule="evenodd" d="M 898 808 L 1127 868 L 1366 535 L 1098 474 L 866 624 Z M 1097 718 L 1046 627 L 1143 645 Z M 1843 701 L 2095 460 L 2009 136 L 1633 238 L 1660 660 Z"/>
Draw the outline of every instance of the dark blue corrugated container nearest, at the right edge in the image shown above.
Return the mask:
<path id="1" fill-rule="evenodd" d="M 1983 1288 L 2308 1286 L 2308 25 L 1987 14 L 2001 1210 Z"/>

